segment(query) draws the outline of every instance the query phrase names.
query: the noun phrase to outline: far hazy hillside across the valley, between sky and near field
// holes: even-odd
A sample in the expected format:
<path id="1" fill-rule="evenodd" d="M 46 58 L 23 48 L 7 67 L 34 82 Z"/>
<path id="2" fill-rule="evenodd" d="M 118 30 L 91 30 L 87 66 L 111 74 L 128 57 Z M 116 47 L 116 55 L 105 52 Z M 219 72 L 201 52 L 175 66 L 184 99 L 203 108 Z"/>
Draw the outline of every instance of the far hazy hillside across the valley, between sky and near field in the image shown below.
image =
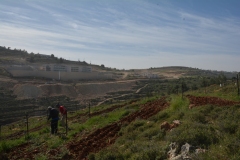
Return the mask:
<path id="1" fill-rule="evenodd" d="M 71 75 L 85 75 L 84 79 L 73 80 L 58 79 L 60 73 L 52 71 L 47 75 L 55 74 L 57 78 L 51 79 L 43 76 L 46 64 L 90 67 L 91 71 L 73 72 Z M 26 72 L 25 76 L 13 75 L 23 70 Z M 34 72 L 35 75 L 31 76 Z M 90 74 L 97 75 L 97 78 L 87 78 Z M 7 124 L 17 121 L 26 113 L 31 116 L 44 115 L 45 108 L 57 102 L 68 106 L 70 111 L 75 111 L 89 104 L 95 106 L 155 94 L 163 96 L 178 93 L 182 84 L 184 91 L 196 90 L 212 84 L 219 85 L 234 77 L 235 72 L 206 71 L 182 66 L 118 70 L 104 65 L 68 61 L 54 55 L 0 47 L 0 122 Z M 21 110 L 13 112 L 15 108 Z"/>

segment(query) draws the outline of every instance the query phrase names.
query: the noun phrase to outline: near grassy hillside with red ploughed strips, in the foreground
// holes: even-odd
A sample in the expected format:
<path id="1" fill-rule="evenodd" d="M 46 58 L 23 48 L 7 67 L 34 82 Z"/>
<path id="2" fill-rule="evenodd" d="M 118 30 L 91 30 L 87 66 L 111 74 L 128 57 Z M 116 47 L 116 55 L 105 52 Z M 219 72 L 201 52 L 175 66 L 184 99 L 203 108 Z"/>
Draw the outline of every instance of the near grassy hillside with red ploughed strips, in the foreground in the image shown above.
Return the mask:
<path id="1" fill-rule="evenodd" d="M 238 159 L 240 97 L 234 83 L 154 95 L 69 113 L 67 133 L 44 117 L 2 127 L 1 158 Z"/>

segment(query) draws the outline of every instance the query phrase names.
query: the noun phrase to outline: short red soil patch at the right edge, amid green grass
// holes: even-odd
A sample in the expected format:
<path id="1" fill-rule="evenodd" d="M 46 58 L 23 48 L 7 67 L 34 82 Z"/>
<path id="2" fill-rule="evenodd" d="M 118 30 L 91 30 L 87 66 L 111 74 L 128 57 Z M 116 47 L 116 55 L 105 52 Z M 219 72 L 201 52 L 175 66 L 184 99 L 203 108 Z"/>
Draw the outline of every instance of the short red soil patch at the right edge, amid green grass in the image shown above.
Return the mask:
<path id="1" fill-rule="evenodd" d="M 216 106 L 231 106 L 231 105 L 240 104 L 240 102 L 224 100 L 217 97 L 196 97 L 192 95 L 187 95 L 186 97 L 188 97 L 190 101 L 190 105 L 192 107 L 203 106 L 208 104 L 216 105 Z"/>

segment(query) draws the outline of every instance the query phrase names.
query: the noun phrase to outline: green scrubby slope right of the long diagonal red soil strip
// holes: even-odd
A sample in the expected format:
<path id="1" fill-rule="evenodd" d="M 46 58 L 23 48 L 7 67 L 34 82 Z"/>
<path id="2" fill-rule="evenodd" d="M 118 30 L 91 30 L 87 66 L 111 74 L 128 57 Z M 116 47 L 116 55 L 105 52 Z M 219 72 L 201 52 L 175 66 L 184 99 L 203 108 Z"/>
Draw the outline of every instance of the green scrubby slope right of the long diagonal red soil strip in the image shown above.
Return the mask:
<path id="1" fill-rule="evenodd" d="M 185 94 L 196 96 L 218 96 L 239 101 L 236 87 L 211 86 Z M 149 120 L 137 120 L 122 128 L 121 137 L 108 149 L 91 155 L 95 159 L 167 159 L 171 142 L 207 149 L 195 159 L 239 159 L 240 158 L 240 106 L 218 107 L 212 105 L 188 109 L 188 99 L 172 95 L 171 106 Z M 182 124 L 171 132 L 160 130 L 164 121 L 178 119 Z M 194 155 L 193 155 L 194 156 Z"/>

